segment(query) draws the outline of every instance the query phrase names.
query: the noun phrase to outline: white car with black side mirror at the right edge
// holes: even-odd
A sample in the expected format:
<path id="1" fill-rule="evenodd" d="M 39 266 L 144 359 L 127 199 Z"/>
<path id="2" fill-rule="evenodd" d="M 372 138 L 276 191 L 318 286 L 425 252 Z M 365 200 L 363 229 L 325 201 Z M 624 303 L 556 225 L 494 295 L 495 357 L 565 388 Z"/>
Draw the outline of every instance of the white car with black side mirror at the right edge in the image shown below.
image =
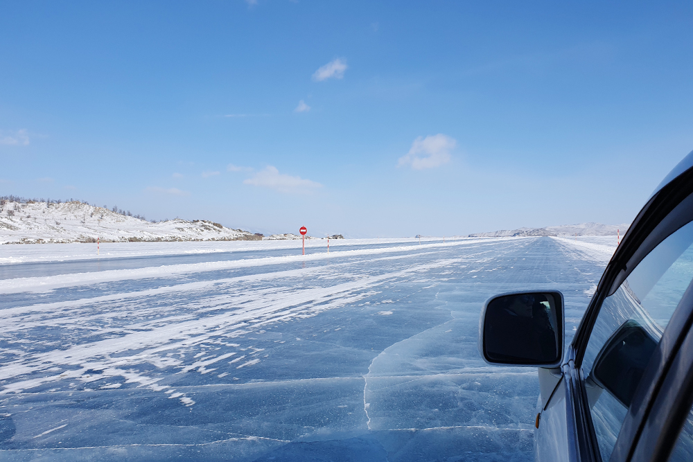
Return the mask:
<path id="1" fill-rule="evenodd" d="M 536 366 L 537 461 L 693 461 L 693 152 L 635 217 L 568 348 L 563 295 L 484 305 L 490 364 Z M 564 351 L 565 349 L 565 351 Z"/>

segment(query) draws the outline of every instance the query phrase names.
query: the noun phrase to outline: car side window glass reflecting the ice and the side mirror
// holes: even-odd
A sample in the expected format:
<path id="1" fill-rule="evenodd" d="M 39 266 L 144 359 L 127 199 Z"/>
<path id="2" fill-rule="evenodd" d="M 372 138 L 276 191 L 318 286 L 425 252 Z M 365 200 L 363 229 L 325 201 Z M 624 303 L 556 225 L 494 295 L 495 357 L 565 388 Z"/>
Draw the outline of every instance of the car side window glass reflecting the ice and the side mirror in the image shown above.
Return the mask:
<path id="1" fill-rule="evenodd" d="M 649 357 L 693 278 L 692 244 L 693 222 L 663 240 L 602 303 L 582 371 L 604 461 Z"/>

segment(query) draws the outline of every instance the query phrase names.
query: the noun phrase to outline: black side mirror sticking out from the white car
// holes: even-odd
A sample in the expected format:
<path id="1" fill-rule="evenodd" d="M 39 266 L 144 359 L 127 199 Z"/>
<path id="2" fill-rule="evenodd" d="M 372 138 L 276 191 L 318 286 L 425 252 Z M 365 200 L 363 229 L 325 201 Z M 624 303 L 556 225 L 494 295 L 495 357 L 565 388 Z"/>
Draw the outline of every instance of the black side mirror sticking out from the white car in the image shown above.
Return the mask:
<path id="1" fill-rule="evenodd" d="M 563 358 L 563 294 L 501 294 L 484 304 L 479 349 L 489 364 L 557 367 Z"/>

